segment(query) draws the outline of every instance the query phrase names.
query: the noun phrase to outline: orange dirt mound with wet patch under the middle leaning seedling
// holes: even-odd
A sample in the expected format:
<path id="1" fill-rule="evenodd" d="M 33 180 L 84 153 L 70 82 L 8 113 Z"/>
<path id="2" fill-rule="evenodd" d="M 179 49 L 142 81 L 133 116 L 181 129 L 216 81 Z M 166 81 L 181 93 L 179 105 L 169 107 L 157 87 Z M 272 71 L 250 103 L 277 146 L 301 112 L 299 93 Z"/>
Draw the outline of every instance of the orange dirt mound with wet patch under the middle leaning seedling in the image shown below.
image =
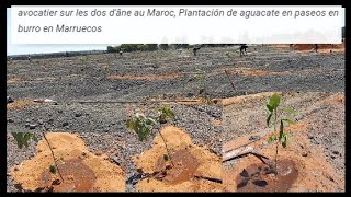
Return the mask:
<path id="1" fill-rule="evenodd" d="M 162 138 L 155 137 L 154 147 L 134 158 L 135 164 L 152 177 L 144 178 L 137 184 L 139 192 L 220 192 L 222 161 L 207 149 L 193 144 L 190 136 L 174 126 L 161 129 L 170 159 Z"/>

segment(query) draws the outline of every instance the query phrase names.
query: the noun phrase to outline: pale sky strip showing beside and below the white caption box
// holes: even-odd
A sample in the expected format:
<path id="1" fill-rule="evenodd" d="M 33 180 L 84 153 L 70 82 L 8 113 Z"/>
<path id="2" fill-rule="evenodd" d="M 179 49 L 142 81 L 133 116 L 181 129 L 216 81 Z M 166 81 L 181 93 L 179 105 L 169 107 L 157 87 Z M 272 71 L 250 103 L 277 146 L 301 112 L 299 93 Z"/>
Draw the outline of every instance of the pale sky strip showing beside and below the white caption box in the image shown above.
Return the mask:
<path id="1" fill-rule="evenodd" d="M 344 24 L 344 12 L 342 12 Z M 105 50 L 107 45 L 14 45 L 11 44 L 11 8 L 7 9 L 7 55 L 29 55 L 58 51 Z M 113 45 L 112 46 L 116 46 Z"/>

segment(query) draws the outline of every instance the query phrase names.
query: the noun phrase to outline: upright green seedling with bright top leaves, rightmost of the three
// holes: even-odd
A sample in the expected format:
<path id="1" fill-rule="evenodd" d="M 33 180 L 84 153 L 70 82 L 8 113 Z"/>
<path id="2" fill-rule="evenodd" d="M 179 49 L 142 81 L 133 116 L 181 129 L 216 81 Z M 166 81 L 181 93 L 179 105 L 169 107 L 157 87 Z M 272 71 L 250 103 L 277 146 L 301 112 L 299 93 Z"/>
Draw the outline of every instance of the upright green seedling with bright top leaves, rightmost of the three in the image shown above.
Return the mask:
<path id="1" fill-rule="evenodd" d="M 268 142 L 269 143 L 273 143 L 275 142 L 275 166 L 274 166 L 274 173 L 278 174 L 278 167 L 276 167 L 276 164 L 278 164 L 278 147 L 279 144 L 281 144 L 283 148 L 286 148 L 286 143 L 287 143 L 287 140 L 288 140 L 288 134 L 284 132 L 284 124 L 292 124 L 292 125 L 295 125 L 295 121 L 291 120 L 291 119 L 286 119 L 286 118 L 281 118 L 279 119 L 279 113 L 281 112 L 285 112 L 285 113 L 288 113 L 288 114 L 294 114 L 296 115 L 297 112 L 294 111 L 294 109 L 280 109 L 279 106 L 281 104 L 281 97 L 274 93 L 268 104 L 265 105 L 265 107 L 268 108 L 269 111 L 269 115 L 268 115 L 268 118 L 267 118 L 267 126 L 270 127 L 270 124 L 271 124 L 271 119 L 273 117 L 273 126 L 274 126 L 274 132 L 269 137 L 269 140 Z M 276 126 L 278 124 L 280 124 L 280 128 L 279 128 L 279 131 L 276 130 Z"/>

